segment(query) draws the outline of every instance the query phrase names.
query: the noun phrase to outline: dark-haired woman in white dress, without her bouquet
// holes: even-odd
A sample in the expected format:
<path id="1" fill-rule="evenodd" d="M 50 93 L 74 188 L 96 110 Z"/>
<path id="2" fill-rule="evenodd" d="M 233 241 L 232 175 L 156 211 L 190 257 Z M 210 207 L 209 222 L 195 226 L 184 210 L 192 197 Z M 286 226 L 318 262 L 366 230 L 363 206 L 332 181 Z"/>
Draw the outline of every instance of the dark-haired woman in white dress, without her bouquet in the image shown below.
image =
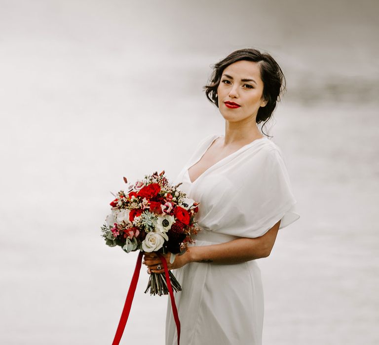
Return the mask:
<path id="1" fill-rule="evenodd" d="M 263 136 L 280 100 L 282 70 L 268 54 L 241 49 L 214 66 L 207 98 L 225 119 L 225 135 L 195 149 L 174 183 L 200 202 L 194 246 L 168 267 L 183 290 L 175 296 L 183 345 L 262 344 L 263 289 L 256 259 L 267 257 L 278 229 L 299 218 L 279 148 Z M 146 253 L 149 272 L 163 273 Z M 177 343 L 168 302 L 166 345 Z"/>

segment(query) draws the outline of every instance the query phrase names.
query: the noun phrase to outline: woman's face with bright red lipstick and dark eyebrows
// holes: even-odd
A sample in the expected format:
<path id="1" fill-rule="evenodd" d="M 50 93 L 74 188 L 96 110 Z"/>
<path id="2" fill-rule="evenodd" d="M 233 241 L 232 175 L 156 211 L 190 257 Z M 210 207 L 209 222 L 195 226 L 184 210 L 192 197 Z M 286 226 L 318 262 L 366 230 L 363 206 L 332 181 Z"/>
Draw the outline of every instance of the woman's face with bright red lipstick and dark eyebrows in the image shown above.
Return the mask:
<path id="1" fill-rule="evenodd" d="M 237 61 L 224 69 L 217 88 L 219 109 L 228 121 L 255 121 L 263 99 L 261 70 L 256 62 Z"/>

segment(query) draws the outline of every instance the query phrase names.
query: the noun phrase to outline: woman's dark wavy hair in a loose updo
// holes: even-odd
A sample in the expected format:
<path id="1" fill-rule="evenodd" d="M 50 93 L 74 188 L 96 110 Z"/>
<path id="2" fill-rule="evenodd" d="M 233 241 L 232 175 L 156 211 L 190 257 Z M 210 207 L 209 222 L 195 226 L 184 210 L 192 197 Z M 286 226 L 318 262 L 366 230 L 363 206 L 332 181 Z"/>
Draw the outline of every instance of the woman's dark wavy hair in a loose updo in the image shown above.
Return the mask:
<path id="1" fill-rule="evenodd" d="M 210 82 L 205 85 L 205 95 L 208 100 L 218 104 L 217 88 L 219 87 L 224 69 L 237 61 L 246 60 L 258 63 L 263 81 L 263 98 L 267 101 L 264 107 L 260 107 L 257 113 L 257 123 L 267 122 L 276 107 L 276 102 L 280 102 L 280 94 L 285 90 L 285 77 L 277 62 L 267 53 L 261 53 L 257 49 L 240 49 L 229 54 L 225 59 L 213 65 L 213 73 Z M 264 125 L 265 125 L 264 123 Z"/>

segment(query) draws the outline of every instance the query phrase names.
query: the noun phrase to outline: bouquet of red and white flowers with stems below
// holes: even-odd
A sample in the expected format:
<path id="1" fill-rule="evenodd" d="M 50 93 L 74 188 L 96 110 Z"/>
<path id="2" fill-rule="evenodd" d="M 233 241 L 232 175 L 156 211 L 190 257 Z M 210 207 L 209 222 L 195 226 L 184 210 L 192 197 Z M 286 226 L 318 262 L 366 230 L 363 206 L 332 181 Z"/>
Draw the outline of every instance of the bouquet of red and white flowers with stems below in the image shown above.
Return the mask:
<path id="1" fill-rule="evenodd" d="M 125 177 L 124 182 L 128 183 Z M 162 171 L 128 184 L 127 191 L 120 190 L 101 227 L 106 244 L 119 245 L 127 253 L 141 250 L 183 254 L 199 230 L 193 221 L 199 203 L 178 188 L 181 184 L 171 185 Z M 182 290 L 171 271 L 169 276 L 173 289 Z M 149 289 L 151 295 L 167 295 L 165 275 L 151 273 L 145 293 Z"/>

